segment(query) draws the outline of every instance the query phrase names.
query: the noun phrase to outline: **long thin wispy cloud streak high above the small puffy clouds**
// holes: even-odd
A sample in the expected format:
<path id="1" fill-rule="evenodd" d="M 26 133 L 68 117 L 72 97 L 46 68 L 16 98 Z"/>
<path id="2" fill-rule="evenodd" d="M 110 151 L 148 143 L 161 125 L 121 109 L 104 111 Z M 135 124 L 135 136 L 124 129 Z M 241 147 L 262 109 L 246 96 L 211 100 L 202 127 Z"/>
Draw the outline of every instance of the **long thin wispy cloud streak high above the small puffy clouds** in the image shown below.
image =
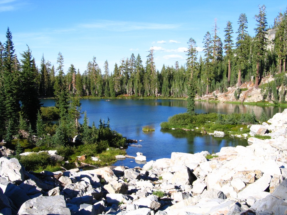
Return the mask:
<path id="1" fill-rule="evenodd" d="M 146 22 L 131 22 L 131 21 L 111 21 L 98 20 L 92 23 L 79 24 L 82 28 L 96 28 L 109 31 L 133 31 L 133 30 L 168 30 L 176 29 L 180 24 L 157 24 Z"/>

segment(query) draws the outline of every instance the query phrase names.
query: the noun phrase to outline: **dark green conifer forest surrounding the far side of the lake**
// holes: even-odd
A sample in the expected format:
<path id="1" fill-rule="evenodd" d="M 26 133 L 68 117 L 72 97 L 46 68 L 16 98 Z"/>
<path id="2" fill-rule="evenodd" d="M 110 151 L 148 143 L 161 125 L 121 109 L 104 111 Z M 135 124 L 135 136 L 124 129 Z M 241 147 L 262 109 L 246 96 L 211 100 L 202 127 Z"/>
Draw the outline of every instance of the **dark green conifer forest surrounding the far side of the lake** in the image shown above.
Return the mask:
<path id="1" fill-rule="evenodd" d="M 73 64 L 65 65 L 68 69 L 64 70 L 61 52 L 55 56 L 57 65 L 51 65 L 44 54 L 40 65 L 36 65 L 29 46 L 20 56 L 15 54 L 13 30 L 8 27 L 6 41 L 0 42 L 0 138 L 11 142 L 15 135 L 24 135 L 26 131 L 29 141 L 34 141 L 36 146 L 67 144 L 68 138 L 79 133 L 85 143 L 110 141 L 105 132 L 114 131 L 108 123 L 103 122 L 96 128 L 94 124 L 88 126 L 87 119 L 83 125 L 77 121 L 82 113 L 79 98 L 84 96 L 188 98 L 188 105 L 191 105 L 188 112 L 192 113 L 196 96 L 216 90 L 226 92 L 228 87 L 240 87 L 251 81 L 255 88 L 261 88 L 266 101 L 285 103 L 287 10 L 278 13 L 274 23 L 267 23 L 265 10 L 264 5 L 260 6 L 255 15 L 256 26 L 249 26 L 255 29 L 254 37 L 247 32 L 245 13 L 240 14 L 237 23 L 226 20 L 226 26 L 221 26 L 224 38 L 218 36 L 215 19 L 213 28 L 206 29 L 202 38 L 203 56 L 198 55 L 196 41 L 191 35 L 186 44 L 186 63 L 174 62 L 162 68 L 155 67 L 153 48 L 147 56 L 131 54 L 115 65 L 109 65 L 107 60 L 104 65 L 98 65 L 94 56 L 87 60 L 85 71 L 77 70 Z M 268 39 L 271 34 L 275 37 Z M 261 87 L 262 78 L 267 76 L 274 77 L 274 81 Z M 57 126 L 48 126 L 53 130 L 51 136 L 47 135 L 48 128 L 44 126 L 40 110 L 39 98 L 47 97 L 55 98 L 60 119 Z M 117 140 L 110 142 L 122 146 L 125 141 L 117 135 Z"/>

